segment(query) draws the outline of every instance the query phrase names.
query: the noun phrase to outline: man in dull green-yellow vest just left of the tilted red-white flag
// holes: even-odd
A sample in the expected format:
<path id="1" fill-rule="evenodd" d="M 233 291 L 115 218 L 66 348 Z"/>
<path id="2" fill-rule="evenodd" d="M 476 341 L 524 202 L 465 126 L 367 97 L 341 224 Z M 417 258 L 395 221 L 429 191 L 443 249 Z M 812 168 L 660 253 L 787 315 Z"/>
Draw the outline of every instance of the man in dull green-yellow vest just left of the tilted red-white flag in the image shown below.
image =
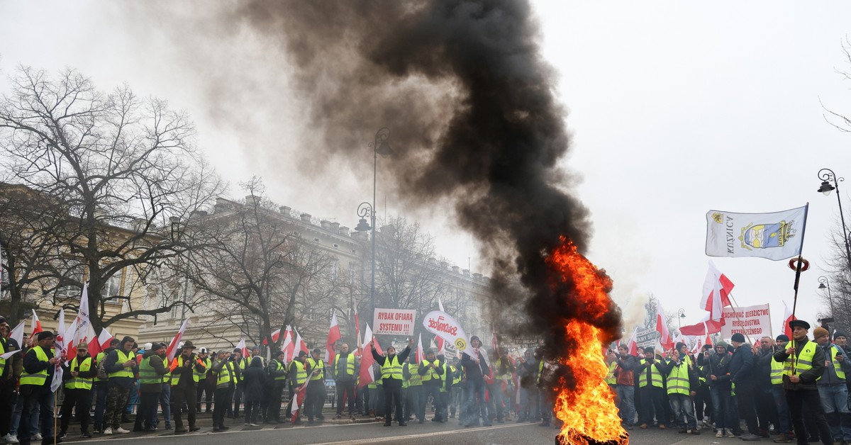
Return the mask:
<path id="1" fill-rule="evenodd" d="M 152 343 L 142 354 L 139 363 L 139 410 L 133 431 L 157 431 L 157 402 L 163 391 L 163 375 L 168 373 L 165 365 L 166 345 Z"/>

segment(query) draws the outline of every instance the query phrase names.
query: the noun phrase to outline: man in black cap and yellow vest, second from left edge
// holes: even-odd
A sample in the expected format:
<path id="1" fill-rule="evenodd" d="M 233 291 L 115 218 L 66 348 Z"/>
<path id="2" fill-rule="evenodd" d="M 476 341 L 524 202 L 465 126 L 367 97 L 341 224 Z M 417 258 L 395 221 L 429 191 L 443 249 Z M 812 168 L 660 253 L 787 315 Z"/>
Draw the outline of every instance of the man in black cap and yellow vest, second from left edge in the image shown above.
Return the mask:
<path id="1" fill-rule="evenodd" d="M 24 374 L 20 375 L 20 445 L 30 445 L 31 437 L 39 431 L 43 436 L 43 444 L 53 443 L 54 419 L 50 414 L 54 412 L 54 393 L 50 391 L 50 381 L 59 358 L 54 357 L 53 353 L 53 333 L 42 331 L 37 334 L 36 341 L 37 344 L 24 356 Z M 40 412 L 41 425 L 39 431 L 31 431 L 31 418 L 37 412 Z"/>

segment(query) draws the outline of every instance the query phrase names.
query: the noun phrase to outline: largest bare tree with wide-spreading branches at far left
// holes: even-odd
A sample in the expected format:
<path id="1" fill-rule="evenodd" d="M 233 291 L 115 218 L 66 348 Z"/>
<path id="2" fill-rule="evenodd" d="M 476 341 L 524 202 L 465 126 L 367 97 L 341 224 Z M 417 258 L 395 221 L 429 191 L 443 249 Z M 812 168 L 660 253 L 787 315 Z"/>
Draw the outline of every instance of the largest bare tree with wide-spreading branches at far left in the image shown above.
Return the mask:
<path id="1" fill-rule="evenodd" d="M 74 261 L 85 275 L 69 277 L 57 267 L 56 293 L 89 282 L 94 328 L 174 305 L 126 308 L 108 314 L 107 302 L 129 301 L 114 286 L 126 270 L 144 282 L 151 267 L 186 249 L 171 237 L 168 222 L 185 220 L 207 206 L 222 185 L 208 171 L 193 143 L 185 114 L 163 100 L 140 99 L 127 87 L 100 93 L 77 71 L 55 78 L 20 67 L 11 93 L 0 102 L 0 149 L 9 182 L 26 185 L 64 210 L 61 249 L 46 262 Z M 77 293 L 78 295 L 78 293 Z M 60 305 L 74 300 L 56 294 Z"/>

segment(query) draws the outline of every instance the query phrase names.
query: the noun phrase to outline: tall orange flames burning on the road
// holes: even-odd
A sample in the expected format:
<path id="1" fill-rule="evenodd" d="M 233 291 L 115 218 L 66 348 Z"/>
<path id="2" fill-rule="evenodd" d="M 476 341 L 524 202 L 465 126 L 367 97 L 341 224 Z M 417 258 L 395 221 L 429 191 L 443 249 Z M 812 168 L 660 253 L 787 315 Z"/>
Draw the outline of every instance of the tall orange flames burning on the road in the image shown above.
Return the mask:
<path id="1" fill-rule="evenodd" d="M 557 442 L 564 445 L 626 443 L 614 394 L 605 382 L 608 367 L 603 360 L 603 330 L 594 322 L 607 317 L 612 305 L 608 292 L 612 280 L 563 239 L 547 259 L 563 282 L 573 282 L 570 305 L 578 305 L 580 319 L 566 320 L 564 335 L 570 346 L 567 357 L 559 358 L 563 372 L 554 382 L 555 411 L 564 422 Z"/>

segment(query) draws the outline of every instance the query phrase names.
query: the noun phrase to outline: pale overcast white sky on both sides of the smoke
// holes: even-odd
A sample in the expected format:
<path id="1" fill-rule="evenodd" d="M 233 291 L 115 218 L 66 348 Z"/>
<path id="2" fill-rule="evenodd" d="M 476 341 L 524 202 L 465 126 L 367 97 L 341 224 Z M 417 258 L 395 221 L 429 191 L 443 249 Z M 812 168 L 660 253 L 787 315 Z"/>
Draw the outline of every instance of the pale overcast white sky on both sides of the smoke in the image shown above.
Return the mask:
<path id="1" fill-rule="evenodd" d="M 812 268 L 802 276 L 798 314 L 814 323 L 823 311 L 816 288 L 831 248 L 827 234 L 839 224 L 836 195 L 815 192 L 816 174 L 828 167 L 851 179 L 851 134 L 825 123 L 820 105 L 851 114 L 851 81 L 835 71 L 851 71 L 841 45 L 851 31 L 851 3 L 534 4 L 545 57 L 560 72 L 557 93 L 569 110 L 573 148 L 564 163 L 584 177 L 575 193 L 591 208 L 595 226 L 587 256 L 614 278 L 614 297 L 627 318 L 643 318 L 633 308 L 653 293 L 666 311 L 683 308 L 685 323 L 698 321 L 709 260 L 708 210 L 769 212 L 809 202 L 803 253 Z M 127 21 L 114 8 L 96 1 L 0 3 L 0 76 L 20 63 L 75 67 L 103 90 L 129 83 L 138 94 L 167 99 L 191 114 L 198 145 L 231 181 L 233 197 L 243 195 L 239 181 L 257 174 L 277 203 L 357 224 L 357 203 L 371 193 L 368 147 L 357 169 L 342 166 L 334 177 L 301 179 L 281 162 L 300 149 L 298 134 L 309 131 L 300 128 L 297 111 L 281 111 L 276 128 L 258 128 L 280 141 L 258 150 L 217 120 L 222 113 L 234 122 L 242 117 L 210 110 L 203 100 L 209 92 L 198 72 L 214 76 L 217 64 L 250 64 L 251 58 L 232 60 L 211 43 L 201 48 L 214 54 L 210 65 L 186 69 L 174 42 L 157 32 L 159 20 Z M 252 43 L 250 36 L 234 38 Z M 282 85 L 285 79 L 269 88 Z M 0 91 L 6 88 L 0 83 Z M 260 95 L 280 93 L 264 91 L 263 83 L 252 88 Z M 364 144 L 373 132 L 364 133 Z M 849 187 L 851 181 L 841 184 L 846 209 Z M 383 201 L 379 191 L 380 212 Z M 393 197 L 386 201 L 390 214 L 422 220 L 437 236 L 440 254 L 462 268 L 471 258 L 473 271 L 480 271 L 469 235 L 446 218 L 426 218 L 439 209 L 395 208 Z M 715 262 L 736 284 L 740 305 L 771 302 L 778 334 L 782 301 L 791 306 L 793 295 L 794 273 L 786 261 Z"/>

